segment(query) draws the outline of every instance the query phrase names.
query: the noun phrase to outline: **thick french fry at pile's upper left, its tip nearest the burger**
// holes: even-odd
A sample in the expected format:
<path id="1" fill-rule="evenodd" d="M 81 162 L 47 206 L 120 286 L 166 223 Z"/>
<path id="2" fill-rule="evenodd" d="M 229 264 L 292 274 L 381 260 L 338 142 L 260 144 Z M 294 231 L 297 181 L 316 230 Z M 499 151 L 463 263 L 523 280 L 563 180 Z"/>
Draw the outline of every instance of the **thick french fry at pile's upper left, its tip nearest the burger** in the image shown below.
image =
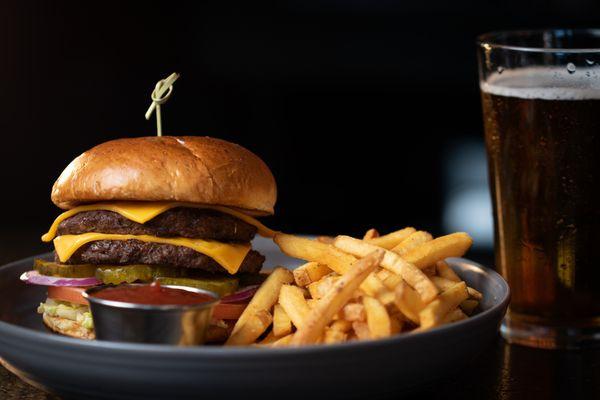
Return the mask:
<path id="1" fill-rule="evenodd" d="M 316 240 L 284 233 L 275 235 L 273 240 L 288 256 L 327 265 L 340 275 L 346 273 L 356 261 L 356 257 Z"/>

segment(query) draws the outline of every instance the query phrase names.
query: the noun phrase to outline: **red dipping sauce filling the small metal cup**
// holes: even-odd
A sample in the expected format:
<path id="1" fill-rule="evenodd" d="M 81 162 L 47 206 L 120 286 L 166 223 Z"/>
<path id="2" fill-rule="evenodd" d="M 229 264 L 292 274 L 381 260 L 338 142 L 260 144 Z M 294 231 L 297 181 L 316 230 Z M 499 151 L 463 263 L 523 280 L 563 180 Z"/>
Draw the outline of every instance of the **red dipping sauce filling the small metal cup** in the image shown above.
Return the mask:
<path id="1" fill-rule="evenodd" d="M 164 287 L 158 282 L 150 285 L 123 285 L 106 288 L 91 296 L 104 300 L 157 306 L 191 306 L 215 300 L 214 297 L 204 293 Z"/>

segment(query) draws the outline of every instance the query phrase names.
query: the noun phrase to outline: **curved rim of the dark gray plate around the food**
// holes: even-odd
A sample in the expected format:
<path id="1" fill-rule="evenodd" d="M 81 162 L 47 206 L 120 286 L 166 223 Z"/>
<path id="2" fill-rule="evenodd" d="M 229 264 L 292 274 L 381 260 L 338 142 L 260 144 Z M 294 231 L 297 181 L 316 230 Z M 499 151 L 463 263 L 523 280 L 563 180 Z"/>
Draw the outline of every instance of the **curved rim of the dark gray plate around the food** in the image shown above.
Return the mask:
<path id="1" fill-rule="evenodd" d="M 47 256 L 51 253 L 41 253 L 37 255 L 33 255 L 30 257 L 22 258 L 8 264 L 4 264 L 0 266 L 0 270 L 5 268 L 10 268 L 15 266 L 16 264 L 22 264 L 27 260 L 32 260 L 34 258 L 39 258 L 43 256 Z M 425 332 L 419 332 L 416 334 L 406 333 L 403 335 L 394 335 L 388 338 L 377 339 L 377 340 L 366 340 L 366 341 L 353 341 L 353 342 L 345 342 L 345 343 L 336 343 L 329 345 L 307 345 L 302 347 L 280 347 L 280 348 L 270 348 L 268 351 L 264 348 L 254 347 L 254 346 L 239 346 L 239 347 L 225 347 L 225 346 L 191 346 L 191 347 L 181 347 L 174 345 L 165 345 L 165 344 L 146 344 L 146 343 L 127 343 L 127 342 L 113 342 L 113 341 L 98 341 L 98 340 L 83 340 L 70 338 L 66 336 L 61 336 L 55 333 L 50 332 L 41 332 L 31 328 L 26 328 L 23 326 L 15 325 L 9 322 L 0 320 L 0 332 L 8 331 L 13 335 L 17 335 L 19 338 L 27 337 L 28 340 L 37 341 L 41 344 L 46 345 L 62 345 L 67 347 L 72 347 L 75 349 L 85 349 L 89 351 L 95 350 L 107 350 L 107 351 L 120 351 L 120 352 L 142 352 L 145 354 L 152 355 L 173 355 L 180 357 L 198 357 L 198 356 L 211 356 L 211 357 L 220 357 L 223 359 L 227 358 L 236 358 L 237 360 L 240 357 L 244 358 L 263 358 L 263 357 L 272 357 L 272 356 L 291 356 L 291 355 L 310 355 L 315 353 L 321 353 L 324 351 L 334 352 L 334 351 L 346 351 L 348 349 L 365 349 L 365 348 L 373 348 L 379 346 L 388 346 L 388 345 L 402 345 L 403 343 L 406 345 L 410 345 L 410 343 L 418 340 L 427 340 L 428 338 L 435 338 L 437 336 L 443 336 L 448 334 L 448 332 L 453 332 L 456 330 L 460 330 L 463 327 L 468 325 L 476 325 L 478 322 L 482 322 L 487 319 L 492 314 L 503 312 L 506 310 L 508 303 L 510 301 L 510 288 L 508 283 L 504 280 L 504 278 L 493 269 L 483 266 L 475 261 L 469 260 L 467 258 L 448 258 L 452 265 L 458 265 L 462 268 L 469 269 L 479 269 L 480 271 L 490 275 L 494 282 L 498 282 L 502 287 L 503 295 L 500 299 L 496 300 L 496 304 L 491 308 L 484 310 L 468 319 L 456 321 L 451 324 L 442 325 L 431 330 Z M 0 351 L 1 352 L 1 351 Z"/>

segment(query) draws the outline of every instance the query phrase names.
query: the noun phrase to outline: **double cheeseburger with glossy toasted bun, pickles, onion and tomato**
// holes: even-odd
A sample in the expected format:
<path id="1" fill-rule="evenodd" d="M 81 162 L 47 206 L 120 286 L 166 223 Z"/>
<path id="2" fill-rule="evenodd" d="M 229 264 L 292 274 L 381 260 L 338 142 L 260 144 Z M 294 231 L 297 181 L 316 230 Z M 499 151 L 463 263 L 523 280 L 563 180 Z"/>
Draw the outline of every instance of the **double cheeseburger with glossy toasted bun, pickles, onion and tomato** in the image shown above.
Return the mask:
<path id="1" fill-rule="evenodd" d="M 91 339 L 81 293 L 93 285 L 158 280 L 243 301 L 265 259 L 250 242 L 273 235 L 254 217 L 273 214 L 277 190 L 267 165 L 236 144 L 141 137 L 86 151 L 51 197 L 65 210 L 42 237 L 54 260 L 36 260 L 22 279 L 48 286 L 38 312 L 50 329 Z M 214 323 L 227 329 L 244 306 L 223 302 Z"/>

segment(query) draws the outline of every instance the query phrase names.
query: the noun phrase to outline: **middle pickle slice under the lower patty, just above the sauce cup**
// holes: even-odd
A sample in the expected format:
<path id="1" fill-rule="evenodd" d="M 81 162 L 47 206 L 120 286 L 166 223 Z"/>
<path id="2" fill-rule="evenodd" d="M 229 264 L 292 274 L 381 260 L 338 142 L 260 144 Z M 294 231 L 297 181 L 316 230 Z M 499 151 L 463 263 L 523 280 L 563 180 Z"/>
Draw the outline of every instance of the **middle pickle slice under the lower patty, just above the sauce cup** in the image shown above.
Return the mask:
<path id="1" fill-rule="evenodd" d="M 136 281 L 150 282 L 158 276 L 185 277 L 189 272 L 184 268 L 171 268 L 160 265 L 124 265 L 124 266 L 99 266 L 96 278 L 105 284 L 119 285 Z"/>

